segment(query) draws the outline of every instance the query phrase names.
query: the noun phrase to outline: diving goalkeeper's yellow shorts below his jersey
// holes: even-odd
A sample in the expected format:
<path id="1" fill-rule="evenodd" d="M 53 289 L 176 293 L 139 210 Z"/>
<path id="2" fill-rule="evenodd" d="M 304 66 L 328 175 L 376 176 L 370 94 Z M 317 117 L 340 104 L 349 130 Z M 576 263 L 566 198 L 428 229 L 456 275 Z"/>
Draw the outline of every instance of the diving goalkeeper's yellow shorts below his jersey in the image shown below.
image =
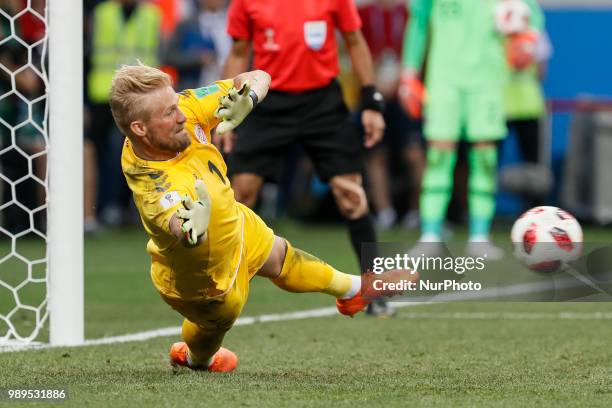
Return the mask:
<path id="1" fill-rule="evenodd" d="M 189 321 L 206 330 L 229 330 L 249 296 L 249 281 L 270 256 L 274 232 L 248 207 L 238 204 L 244 215 L 244 246 L 234 285 L 222 296 L 202 300 L 161 297 Z M 232 273 L 233 271 L 228 271 Z"/>

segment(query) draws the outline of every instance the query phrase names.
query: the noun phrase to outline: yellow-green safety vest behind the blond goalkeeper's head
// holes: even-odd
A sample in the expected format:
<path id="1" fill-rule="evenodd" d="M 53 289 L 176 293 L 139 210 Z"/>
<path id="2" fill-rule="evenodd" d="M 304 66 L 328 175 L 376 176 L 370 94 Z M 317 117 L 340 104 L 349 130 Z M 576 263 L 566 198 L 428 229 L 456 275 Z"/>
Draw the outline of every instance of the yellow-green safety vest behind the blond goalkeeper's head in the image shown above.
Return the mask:
<path id="1" fill-rule="evenodd" d="M 121 4 L 109 0 L 93 13 L 91 71 L 87 78 L 89 98 L 108 102 L 115 70 L 122 64 L 159 66 L 161 16 L 156 6 L 142 3 L 125 21 Z"/>

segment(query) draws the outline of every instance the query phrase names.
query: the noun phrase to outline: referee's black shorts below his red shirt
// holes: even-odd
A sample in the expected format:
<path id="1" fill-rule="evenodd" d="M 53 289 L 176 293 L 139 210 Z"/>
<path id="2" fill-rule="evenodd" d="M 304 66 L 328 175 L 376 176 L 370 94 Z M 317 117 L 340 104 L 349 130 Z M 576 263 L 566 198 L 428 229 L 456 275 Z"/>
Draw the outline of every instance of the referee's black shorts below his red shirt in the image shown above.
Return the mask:
<path id="1" fill-rule="evenodd" d="M 362 135 L 351 122 L 337 81 L 303 93 L 270 91 L 236 129 L 231 174 L 277 180 L 288 149 L 303 146 L 321 179 L 360 173 Z"/>

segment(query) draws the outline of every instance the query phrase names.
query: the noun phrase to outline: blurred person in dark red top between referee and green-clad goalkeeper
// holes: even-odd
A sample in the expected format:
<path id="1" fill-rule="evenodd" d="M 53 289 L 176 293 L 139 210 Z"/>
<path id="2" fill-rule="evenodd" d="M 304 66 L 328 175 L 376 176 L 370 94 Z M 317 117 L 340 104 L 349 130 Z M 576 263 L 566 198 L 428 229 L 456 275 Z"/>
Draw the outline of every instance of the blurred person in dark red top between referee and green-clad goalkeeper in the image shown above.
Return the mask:
<path id="1" fill-rule="evenodd" d="M 363 35 L 376 67 L 376 87 L 384 95 L 387 127 L 383 143 L 368 155 L 367 171 L 372 202 L 376 207 L 376 224 L 381 229 L 391 227 L 397 219 L 392 202 L 394 180 L 410 180 L 410 203 L 404 225 L 418 225 L 418 197 L 425 164 L 420 121 L 411 120 L 398 99 L 400 60 L 408 11 L 404 0 L 372 0 L 360 3 L 359 15 Z M 408 164 L 409 173 L 406 174 Z M 398 165 L 400 164 L 400 165 Z M 400 177 L 389 177 L 390 171 Z M 400 186 L 401 187 L 401 186 Z M 405 191 L 405 189 L 402 189 Z"/>

